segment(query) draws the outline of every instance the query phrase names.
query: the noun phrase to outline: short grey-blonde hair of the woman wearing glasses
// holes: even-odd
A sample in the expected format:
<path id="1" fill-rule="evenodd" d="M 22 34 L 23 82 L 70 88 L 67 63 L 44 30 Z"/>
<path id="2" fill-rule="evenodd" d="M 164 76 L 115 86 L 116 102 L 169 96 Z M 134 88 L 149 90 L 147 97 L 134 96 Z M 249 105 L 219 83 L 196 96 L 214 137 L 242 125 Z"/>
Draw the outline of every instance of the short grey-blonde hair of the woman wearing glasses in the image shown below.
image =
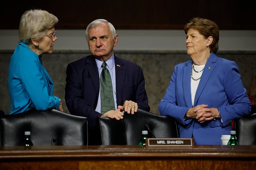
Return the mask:
<path id="1" fill-rule="evenodd" d="M 56 16 L 45 10 L 25 11 L 20 18 L 19 41 L 27 44 L 31 43 L 31 39 L 41 39 L 58 21 Z"/>

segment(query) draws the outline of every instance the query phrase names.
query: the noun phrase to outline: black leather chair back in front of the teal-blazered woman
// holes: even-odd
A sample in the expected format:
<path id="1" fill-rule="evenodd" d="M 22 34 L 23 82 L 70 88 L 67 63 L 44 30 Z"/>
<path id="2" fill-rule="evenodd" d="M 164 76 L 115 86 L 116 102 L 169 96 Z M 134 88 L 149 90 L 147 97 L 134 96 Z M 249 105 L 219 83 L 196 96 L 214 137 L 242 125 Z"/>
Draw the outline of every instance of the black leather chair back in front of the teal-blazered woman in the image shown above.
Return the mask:
<path id="1" fill-rule="evenodd" d="M 4 115 L 0 146 L 21 146 L 24 132 L 31 131 L 34 146 L 87 145 L 87 118 L 55 109 Z"/>

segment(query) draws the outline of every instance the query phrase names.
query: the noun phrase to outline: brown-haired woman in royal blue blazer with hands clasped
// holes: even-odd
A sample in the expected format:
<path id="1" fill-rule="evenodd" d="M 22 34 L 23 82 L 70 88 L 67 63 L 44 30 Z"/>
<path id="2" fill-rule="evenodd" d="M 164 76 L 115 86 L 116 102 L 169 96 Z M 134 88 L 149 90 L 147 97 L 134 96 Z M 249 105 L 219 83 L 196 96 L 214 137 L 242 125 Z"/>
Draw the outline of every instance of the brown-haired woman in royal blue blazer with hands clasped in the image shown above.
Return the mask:
<path id="1" fill-rule="evenodd" d="M 193 18 L 184 31 L 191 60 L 175 66 L 159 112 L 178 120 L 180 137 L 194 137 L 196 145 L 221 145 L 231 122 L 250 114 L 251 103 L 237 64 L 215 55 L 217 24 Z"/>

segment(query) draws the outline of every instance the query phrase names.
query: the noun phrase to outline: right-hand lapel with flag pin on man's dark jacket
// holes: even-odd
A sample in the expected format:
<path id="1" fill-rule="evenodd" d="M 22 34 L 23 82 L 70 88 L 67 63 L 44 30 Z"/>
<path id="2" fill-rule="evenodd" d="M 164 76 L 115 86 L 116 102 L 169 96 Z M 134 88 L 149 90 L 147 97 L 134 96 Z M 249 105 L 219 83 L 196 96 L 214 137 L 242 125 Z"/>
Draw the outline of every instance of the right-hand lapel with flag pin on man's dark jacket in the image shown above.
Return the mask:
<path id="1" fill-rule="evenodd" d="M 125 82 L 126 68 L 122 60 L 115 56 L 115 69 L 116 69 L 116 103 L 117 106 L 121 105 L 122 101 L 122 88 Z"/>

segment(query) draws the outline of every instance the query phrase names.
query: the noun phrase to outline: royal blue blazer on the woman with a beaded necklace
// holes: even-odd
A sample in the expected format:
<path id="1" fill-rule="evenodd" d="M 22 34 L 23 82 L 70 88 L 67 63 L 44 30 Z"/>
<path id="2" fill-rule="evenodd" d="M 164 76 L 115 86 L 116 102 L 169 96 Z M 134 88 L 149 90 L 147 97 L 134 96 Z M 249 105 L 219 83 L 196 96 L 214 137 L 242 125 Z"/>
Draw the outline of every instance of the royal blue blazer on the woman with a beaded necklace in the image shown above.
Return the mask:
<path id="1" fill-rule="evenodd" d="M 158 106 L 159 112 L 178 120 L 180 137 L 194 137 L 197 145 L 221 145 L 222 134 L 230 134 L 232 130 L 232 120 L 250 114 L 250 100 L 237 64 L 211 53 L 197 88 L 194 106 L 208 104 L 208 108 L 217 108 L 221 119 L 204 123 L 195 119 L 184 121 L 185 113 L 193 107 L 190 92 L 192 64 L 190 60 L 175 66 L 170 85 Z"/>

